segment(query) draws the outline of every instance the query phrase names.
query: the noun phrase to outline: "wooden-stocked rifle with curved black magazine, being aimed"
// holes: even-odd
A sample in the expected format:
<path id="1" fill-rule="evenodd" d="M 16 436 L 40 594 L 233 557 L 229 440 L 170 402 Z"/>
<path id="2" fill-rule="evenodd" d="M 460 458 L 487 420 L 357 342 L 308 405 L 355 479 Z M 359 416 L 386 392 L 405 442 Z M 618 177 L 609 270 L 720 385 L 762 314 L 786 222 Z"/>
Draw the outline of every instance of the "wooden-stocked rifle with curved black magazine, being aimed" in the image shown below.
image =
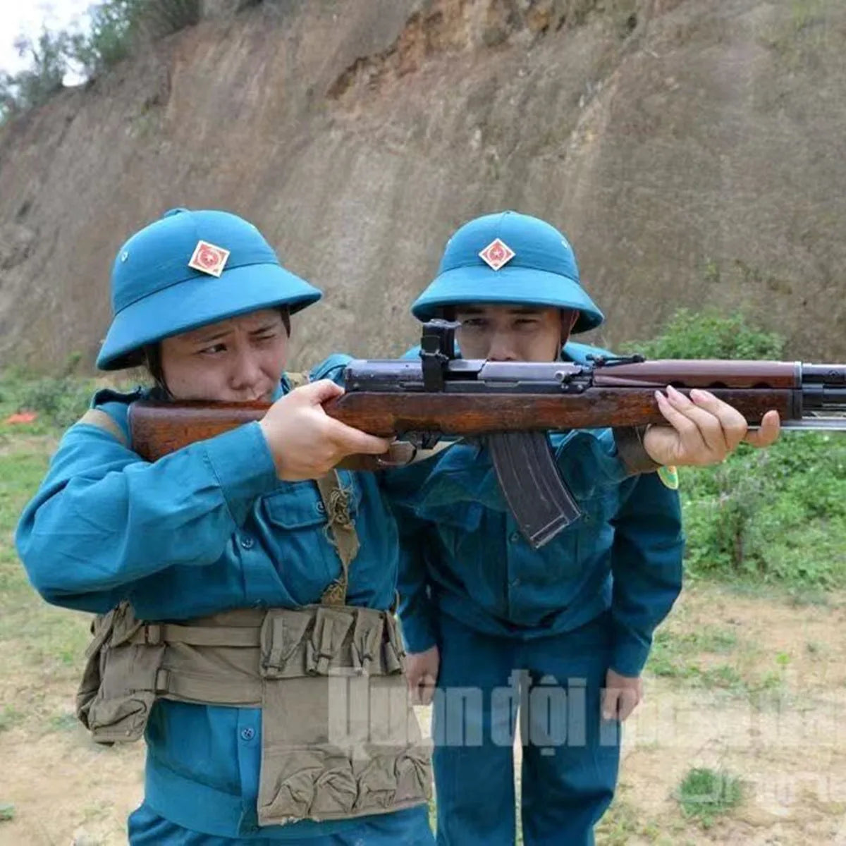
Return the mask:
<path id="1" fill-rule="evenodd" d="M 457 327 L 448 321 L 426 323 L 417 360 L 350 361 L 343 395 L 324 409 L 348 426 L 397 437 L 415 449 L 432 448 L 445 438 L 481 437 L 508 507 L 535 548 L 581 515 L 558 473 L 547 431 L 666 423 L 656 389 L 705 388 L 753 427 L 775 409 L 785 430 L 846 431 L 846 365 L 647 361 L 640 355 L 595 356 L 590 365 L 464 360 L 456 354 Z M 261 420 L 268 407 L 139 400 L 129 408 L 132 448 L 155 461 Z"/>

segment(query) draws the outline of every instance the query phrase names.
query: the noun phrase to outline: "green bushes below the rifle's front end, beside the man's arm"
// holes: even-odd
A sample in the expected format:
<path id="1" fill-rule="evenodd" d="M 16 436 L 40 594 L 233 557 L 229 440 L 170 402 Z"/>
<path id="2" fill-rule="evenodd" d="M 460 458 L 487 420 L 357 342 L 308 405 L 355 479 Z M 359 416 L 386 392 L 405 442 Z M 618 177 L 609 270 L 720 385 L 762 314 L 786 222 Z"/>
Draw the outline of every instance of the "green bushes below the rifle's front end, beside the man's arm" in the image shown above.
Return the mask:
<path id="1" fill-rule="evenodd" d="M 846 584 L 846 439 L 785 433 L 681 482 L 692 576 L 792 587 Z"/>

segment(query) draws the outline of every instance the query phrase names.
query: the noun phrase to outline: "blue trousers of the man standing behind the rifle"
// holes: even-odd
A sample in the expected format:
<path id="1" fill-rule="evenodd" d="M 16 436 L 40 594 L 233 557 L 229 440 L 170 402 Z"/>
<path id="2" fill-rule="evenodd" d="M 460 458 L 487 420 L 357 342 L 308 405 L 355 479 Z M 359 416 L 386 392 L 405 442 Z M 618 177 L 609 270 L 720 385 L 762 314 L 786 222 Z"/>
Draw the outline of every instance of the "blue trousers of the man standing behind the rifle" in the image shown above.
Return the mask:
<path id="1" fill-rule="evenodd" d="M 519 719 L 526 846 L 591 846 L 619 764 L 619 724 L 603 721 L 600 712 L 608 615 L 536 640 L 480 634 L 447 615 L 439 623 L 432 720 L 437 843 L 513 846 Z"/>

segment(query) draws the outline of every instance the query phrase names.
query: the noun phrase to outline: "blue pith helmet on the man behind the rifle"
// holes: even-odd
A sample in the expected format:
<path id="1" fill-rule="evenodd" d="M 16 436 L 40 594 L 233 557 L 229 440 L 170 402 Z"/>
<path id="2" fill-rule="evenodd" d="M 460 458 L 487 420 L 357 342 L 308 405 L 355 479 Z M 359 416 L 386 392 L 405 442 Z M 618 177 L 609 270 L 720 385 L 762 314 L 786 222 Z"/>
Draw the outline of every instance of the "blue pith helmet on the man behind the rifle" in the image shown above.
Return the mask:
<path id="1" fill-rule="evenodd" d="M 494 270 L 481 253 L 488 254 Z M 503 247 L 507 248 L 503 253 Z M 508 251 L 514 253 L 508 258 Z M 498 260 L 498 261 L 497 261 Z M 476 217 L 449 239 L 437 277 L 411 306 L 421 321 L 447 305 L 467 303 L 547 305 L 579 312 L 573 332 L 587 332 L 605 317 L 581 287 L 573 248 L 563 234 L 537 217 L 500 211 Z"/>

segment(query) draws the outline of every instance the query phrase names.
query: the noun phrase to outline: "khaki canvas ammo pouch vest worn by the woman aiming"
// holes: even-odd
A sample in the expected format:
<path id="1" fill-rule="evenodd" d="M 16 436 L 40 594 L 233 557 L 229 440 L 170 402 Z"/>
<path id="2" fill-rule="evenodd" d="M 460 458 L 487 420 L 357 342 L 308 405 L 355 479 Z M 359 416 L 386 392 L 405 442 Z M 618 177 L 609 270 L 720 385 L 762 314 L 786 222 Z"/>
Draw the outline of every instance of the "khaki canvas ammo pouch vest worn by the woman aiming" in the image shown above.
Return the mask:
<path id="1" fill-rule="evenodd" d="M 410 704 L 396 620 L 345 604 L 359 548 L 349 494 L 335 471 L 317 486 L 342 564 L 319 604 L 157 623 L 122 602 L 91 624 L 76 697 L 77 717 L 104 744 L 140 739 L 159 699 L 261 708 L 260 826 L 431 798 L 429 745 Z"/>

